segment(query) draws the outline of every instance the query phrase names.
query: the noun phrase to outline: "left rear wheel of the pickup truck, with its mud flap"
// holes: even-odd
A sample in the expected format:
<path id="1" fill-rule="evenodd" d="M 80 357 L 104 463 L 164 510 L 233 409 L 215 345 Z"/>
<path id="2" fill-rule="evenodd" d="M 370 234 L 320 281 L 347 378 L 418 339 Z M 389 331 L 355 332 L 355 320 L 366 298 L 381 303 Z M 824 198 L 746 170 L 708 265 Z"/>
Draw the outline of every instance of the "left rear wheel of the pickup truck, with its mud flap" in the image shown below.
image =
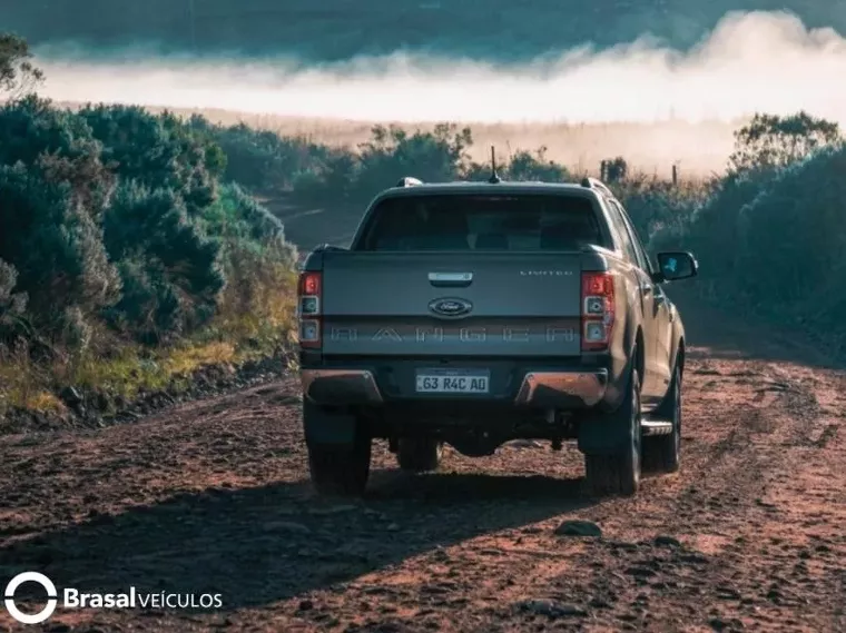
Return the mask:
<path id="1" fill-rule="evenodd" d="M 370 476 L 372 441 L 356 435 L 352 446 L 313 444 L 308 446 L 312 484 L 321 495 L 360 496 Z"/>

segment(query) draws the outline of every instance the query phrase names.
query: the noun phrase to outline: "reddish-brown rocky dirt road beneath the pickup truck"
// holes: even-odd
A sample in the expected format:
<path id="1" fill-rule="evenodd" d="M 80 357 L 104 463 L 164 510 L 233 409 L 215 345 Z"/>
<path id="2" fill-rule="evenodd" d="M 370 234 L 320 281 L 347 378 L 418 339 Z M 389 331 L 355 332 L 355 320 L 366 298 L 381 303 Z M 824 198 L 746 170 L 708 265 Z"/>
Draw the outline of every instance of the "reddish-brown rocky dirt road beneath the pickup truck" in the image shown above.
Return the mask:
<path id="1" fill-rule="evenodd" d="M 275 384 L 3 438 L 0 576 L 224 603 L 60 607 L 39 625 L 57 632 L 846 631 L 844 375 L 759 328 L 682 314 L 697 345 L 682 472 L 633 500 L 583 497 L 573 448 L 510 445 L 416 477 L 380 446 L 366 500 L 319 502 L 295 384 Z M 602 537 L 555 533 L 572 520 Z"/>

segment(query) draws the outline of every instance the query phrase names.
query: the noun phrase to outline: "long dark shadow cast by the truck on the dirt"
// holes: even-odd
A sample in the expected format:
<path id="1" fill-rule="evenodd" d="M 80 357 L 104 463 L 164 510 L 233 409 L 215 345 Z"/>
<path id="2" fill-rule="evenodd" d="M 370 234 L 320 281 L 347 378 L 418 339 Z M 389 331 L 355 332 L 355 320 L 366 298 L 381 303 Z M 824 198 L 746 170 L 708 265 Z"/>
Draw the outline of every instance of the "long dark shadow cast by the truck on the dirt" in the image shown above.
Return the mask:
<path id="1" fill-rule="evenodd" d="M 579 484 L 390 471 L 375 472 L 357 503 L 318 501 L 304 483 L 208 489 L 7 545 L 0 565 L 8 576 L 40 571 L 59 591 L 220 593 L 223 609 L 237 610 L 567 514 L 590 503 Z"/>

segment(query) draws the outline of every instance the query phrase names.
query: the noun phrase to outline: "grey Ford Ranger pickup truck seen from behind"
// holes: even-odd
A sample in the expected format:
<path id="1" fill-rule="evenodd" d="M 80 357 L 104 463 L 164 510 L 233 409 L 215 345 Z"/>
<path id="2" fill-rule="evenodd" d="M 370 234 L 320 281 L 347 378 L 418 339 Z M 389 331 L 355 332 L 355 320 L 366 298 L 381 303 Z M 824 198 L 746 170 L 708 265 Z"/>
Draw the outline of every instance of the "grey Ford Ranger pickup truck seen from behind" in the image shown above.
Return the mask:
<path id="1" fill-rule="evenodd" d="M 677 471 L 686 340 L 665 286 L 697 271 L 686 251 L 650 258 L 593 178 L 404 178 L 299 274 L 318 494 L 362 494 L 374 438 L 412 472 L 436 469 L 445 443 L 484 456 L 574 439 L 592 495 Z"/>

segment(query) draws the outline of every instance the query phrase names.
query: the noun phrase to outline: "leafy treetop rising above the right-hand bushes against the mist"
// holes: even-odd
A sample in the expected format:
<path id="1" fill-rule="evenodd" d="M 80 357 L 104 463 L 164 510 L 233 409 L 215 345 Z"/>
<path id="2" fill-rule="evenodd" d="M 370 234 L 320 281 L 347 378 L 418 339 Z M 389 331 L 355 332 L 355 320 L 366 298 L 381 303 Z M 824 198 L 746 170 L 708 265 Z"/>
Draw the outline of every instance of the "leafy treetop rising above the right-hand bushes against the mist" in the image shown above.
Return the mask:
<path id="1" fill-rule="evenodd" d="M 800 111 L 789 117 L 756 113 L 735 132 L 729 172 L 735 175 L 783 169 L 810 154 L 842 141 L 836 122 Z"/>

